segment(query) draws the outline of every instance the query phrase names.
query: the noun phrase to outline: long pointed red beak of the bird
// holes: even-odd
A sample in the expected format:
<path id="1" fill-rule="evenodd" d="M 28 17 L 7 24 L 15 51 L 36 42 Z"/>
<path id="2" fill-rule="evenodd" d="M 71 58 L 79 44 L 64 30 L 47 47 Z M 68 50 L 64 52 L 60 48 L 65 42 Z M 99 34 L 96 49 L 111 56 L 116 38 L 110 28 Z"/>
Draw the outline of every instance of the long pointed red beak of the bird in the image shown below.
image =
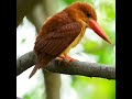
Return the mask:
<path id="1" fill-rule="evenodd" d="M 89 19 L 89 26 L 100 36 L 102 37 L 105 41 L 107 41 L 108 43 L 111 44 L 109 37 L 106 35 L 106 33 L 103 32 L 103 30 L 100 28 L 100 25 L 92 19 Z"/>

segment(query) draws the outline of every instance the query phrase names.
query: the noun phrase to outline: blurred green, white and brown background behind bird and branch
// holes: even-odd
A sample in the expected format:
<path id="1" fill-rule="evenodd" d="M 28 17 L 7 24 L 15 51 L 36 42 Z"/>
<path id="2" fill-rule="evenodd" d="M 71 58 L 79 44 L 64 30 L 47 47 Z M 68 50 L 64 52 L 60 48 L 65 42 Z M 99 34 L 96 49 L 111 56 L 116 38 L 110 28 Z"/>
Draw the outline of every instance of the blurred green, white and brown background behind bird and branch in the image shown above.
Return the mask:
<path id="1" fill-rule="evenodd" d="M 46 18 L 75 1 L 88 2 L 95 8 L 98 23 L 112 44 L 108 44 L 92 30 L 87 29 L 84 38 L 70 51 L 69 56 L 81 62 L 116 65 L 116 0 L 40 0 L 16 28 L 16 58 L 33 50 L 35 37 Z M 43 70 L 38 70 L 29 79 L 32 69 L 33 67 L 16 77 L 18 97 L 23 99 L 116 99 L 116 80 L 59 75 Z"/>

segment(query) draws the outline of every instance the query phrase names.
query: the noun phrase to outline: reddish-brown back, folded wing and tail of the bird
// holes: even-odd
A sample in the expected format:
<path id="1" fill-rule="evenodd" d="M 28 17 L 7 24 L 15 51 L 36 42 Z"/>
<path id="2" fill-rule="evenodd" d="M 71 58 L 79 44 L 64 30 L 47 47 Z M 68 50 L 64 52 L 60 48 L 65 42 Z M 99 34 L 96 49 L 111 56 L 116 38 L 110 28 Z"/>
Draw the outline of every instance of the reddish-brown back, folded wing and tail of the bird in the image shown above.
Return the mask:
<path id="1" fill-rule="evenodd" d="M 56 13 L 48 19 L 35 41 L 34 53 L 37 56 L 37 61 L 30 77 L 38 68 L 61 55 L 79 35 L 80 31 L 81 24 L 69 16 L 66 11 Z"/>

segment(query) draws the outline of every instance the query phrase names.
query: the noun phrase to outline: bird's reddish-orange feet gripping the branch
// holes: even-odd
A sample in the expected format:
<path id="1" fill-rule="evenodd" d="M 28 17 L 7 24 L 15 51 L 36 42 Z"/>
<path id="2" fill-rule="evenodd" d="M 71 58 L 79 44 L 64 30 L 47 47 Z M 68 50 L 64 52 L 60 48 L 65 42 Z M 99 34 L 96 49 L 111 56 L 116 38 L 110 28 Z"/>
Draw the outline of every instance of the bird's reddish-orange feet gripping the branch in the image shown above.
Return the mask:
<path id="1" fill-rule="evenodd" d="M 68 55 L 59 56 L 58 64 L 61 64 L 63 61 L 67 61 L 65 66 L 67 66 L 70 62 L 78 62 L 77 59 L 69 57 Z"/>

